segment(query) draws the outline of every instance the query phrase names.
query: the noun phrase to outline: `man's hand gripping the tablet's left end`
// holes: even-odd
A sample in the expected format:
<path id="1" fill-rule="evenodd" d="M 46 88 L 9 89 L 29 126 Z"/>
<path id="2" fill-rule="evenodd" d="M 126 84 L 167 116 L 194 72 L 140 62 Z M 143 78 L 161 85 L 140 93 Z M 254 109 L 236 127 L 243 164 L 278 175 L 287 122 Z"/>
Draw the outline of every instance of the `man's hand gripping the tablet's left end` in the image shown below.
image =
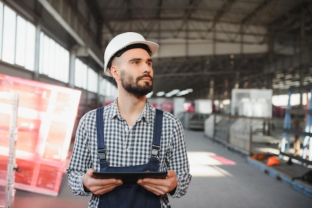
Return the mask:
<path id="1" fill-rule="evenodd" d="M 86 190 L 95 195 L 107 193 L 123 184 L 121 180 L 116 179 L 95 179 L 93 177 L 93 172 L 95 172 L 95 170 L 90 168 L 84 175 L 82 183 Z"/>

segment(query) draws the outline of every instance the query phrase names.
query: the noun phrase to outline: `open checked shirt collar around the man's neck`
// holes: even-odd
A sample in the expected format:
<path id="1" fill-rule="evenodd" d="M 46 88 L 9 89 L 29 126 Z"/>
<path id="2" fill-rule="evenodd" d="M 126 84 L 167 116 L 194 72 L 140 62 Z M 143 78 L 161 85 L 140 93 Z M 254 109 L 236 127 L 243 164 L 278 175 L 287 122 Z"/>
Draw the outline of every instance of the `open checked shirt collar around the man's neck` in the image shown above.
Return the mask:
<path id="1" fill-rule="evenodd" d="M 154 111 L 155 110 L 153 110 L 153 106 L 150 105 L 149 101 L 147 100 L 142 110 L 142 113 L 140 117 L 137 119 L 137 121 L 139 122 L 143 119 L 145 122 L 150 123 L 151 119 L 153 119 Z M 110 119 L 113 119 L 114 117 L 118 117 L 120 120 L 124 119 L 119 112 L 119 109 L 117 106 L 117 99 L 114 101 L 114 103 L 111 104 L 108 117 Z"/>

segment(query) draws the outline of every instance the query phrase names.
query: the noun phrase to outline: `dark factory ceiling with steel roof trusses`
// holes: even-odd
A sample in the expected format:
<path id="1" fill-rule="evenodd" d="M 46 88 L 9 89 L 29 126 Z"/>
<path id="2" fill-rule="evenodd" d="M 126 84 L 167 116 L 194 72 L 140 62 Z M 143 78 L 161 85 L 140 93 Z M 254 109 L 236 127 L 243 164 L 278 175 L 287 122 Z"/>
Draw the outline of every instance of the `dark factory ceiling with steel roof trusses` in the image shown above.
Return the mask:
<path id="1" fill-rule="evenodd" d="M 193 89 L 186 98 L 230 99 L 233 88 L 273 89 L 277 95 L 291 86 L 312 84 L 312 0 L 14 2 L 31 10 L 43 30 L 68 48 L 96 48 L 81 56 L 99 71 L 115 35 L 136 31 L 157 42 L 153 97 Z M 70 19 L 73 15 L 87 32 L 71 32 L 79 28 Z M 78 47 L 78 56 L 81 51 Z"/>

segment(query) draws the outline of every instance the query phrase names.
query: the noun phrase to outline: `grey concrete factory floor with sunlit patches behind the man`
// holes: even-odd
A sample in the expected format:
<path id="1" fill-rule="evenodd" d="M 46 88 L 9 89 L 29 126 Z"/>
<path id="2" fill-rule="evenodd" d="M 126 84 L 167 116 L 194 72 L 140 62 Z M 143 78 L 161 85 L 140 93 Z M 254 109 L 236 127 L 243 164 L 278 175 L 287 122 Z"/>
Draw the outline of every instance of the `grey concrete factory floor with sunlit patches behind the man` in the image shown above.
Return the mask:
<path id="1" fill-rule="evenodd" d="M 250 165 L 246 156 L 185 130 L 191 184 L 172 208 L 311 208 L 312 198 Z M 87 208 L 87 197 L 74 196 L 64 173 L 60 193 L 50 197 L 16 190 L 13 208 Z"/>

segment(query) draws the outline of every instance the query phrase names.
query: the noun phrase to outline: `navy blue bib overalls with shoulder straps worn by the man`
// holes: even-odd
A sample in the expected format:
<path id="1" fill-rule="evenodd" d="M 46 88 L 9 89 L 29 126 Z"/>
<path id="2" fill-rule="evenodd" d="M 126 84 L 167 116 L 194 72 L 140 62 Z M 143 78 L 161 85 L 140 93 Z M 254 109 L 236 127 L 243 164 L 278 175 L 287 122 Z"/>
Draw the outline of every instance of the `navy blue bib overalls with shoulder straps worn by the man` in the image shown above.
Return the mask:
<path id="1" fill-rule="evenodd" d="M 156 109 L 151 158 L 147 164 L 129 167 L 109 167 L 106 160 L 107 149 L 104 142 L 103 107 L 97 108 L 97 143 L 101 172 L 158 171 L 162 111 Z M 101 138 L 101 139 L 100 139 Z M 114 190 L 100 195 L 98 208 L 160 208 L 160 196 L 140 185 L 121 185 Z"/>

